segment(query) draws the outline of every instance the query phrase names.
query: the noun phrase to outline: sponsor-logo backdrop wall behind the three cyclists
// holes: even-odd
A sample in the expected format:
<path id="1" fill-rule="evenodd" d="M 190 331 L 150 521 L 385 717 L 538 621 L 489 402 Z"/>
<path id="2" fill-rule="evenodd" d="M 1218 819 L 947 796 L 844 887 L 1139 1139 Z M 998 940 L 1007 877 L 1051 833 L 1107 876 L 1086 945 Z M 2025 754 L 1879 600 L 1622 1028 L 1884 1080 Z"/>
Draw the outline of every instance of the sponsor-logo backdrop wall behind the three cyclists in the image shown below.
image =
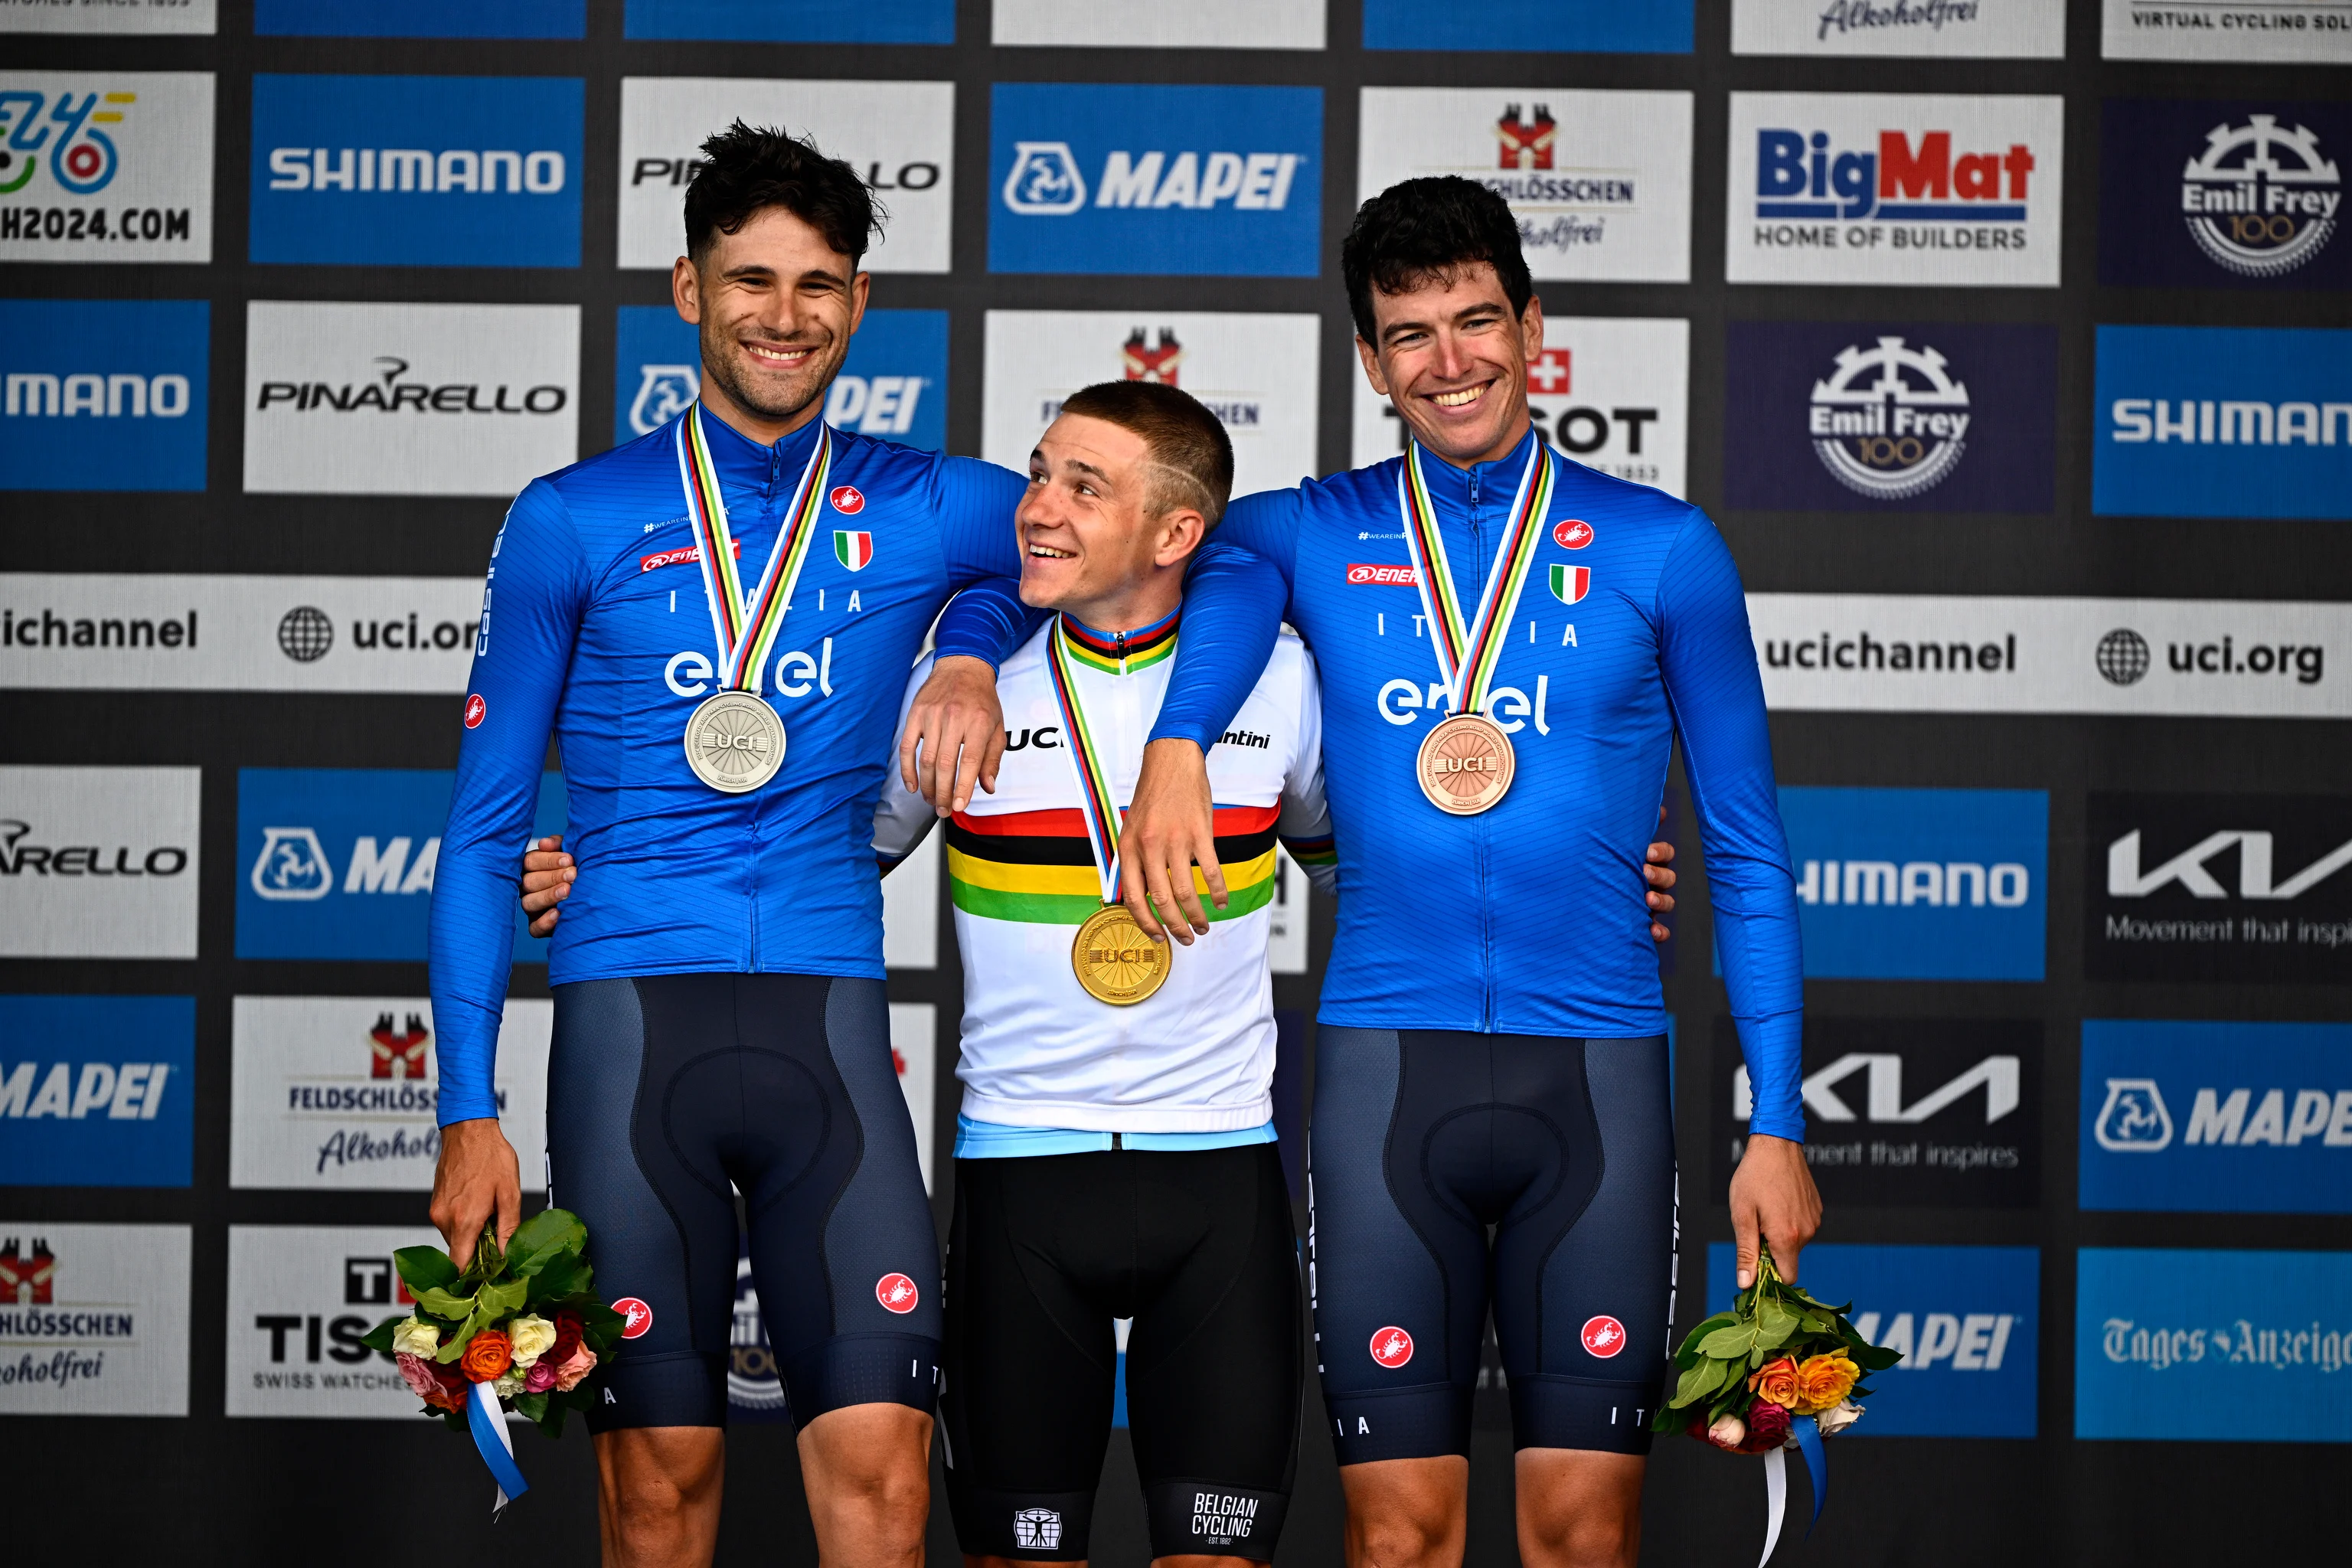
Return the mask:
<path id="1" fill-rule="evenodd" d="M 470 1448 L 355 1338 L 428 1234 L 423 936 L 489 541 L 699 393 L 668 273 L 741 115 L 889 212 L 835 425 L 1021 465 L 1075 388 L 1152 378 L 1244 491 L 1399 451 L 1338 284 L 1355 205 L 1503 195 L 1543 440 L 1703 505 L 1745 578 L 1828 1201 L 1802 1276 L 1910 1356 L 1780 1559 L 2340 1556 L 2352 0 L 0 0 L 0 40 L 19 1554 L 593 1556 L 576 1434 L 524 1441 L 492 1533 Z M 1691 1324 L 1752 1086 L 1679 771 L 1668 802 Z M 884 954 L 946 1218 L 941 877 L 934 837 L 884 884 Z M 1334 917 L 1284 867 L 1294 1187 Z M 1529 938 L 1573 961 L 1573 912 Z M 546 947 L 515 959 L 536 1206 L 553 1004 Z M 729 1371 L 720 1561 L 809 1566 L 748 1274 Z M 1512 1561 L 1489 1371 L 1475 1568 Z M 1341 1563 L 1319 1432 L 1296 1568 Z M 1127 1443 L 1105 1563 L 1145 1554 Z M 400 1481 L 353 1530 L 348 1486 L 280 1481 L 329 1474 Z M 1675 1439 L 1649 1476 L 1651 1561 L 1755 1552 L 1752 1465 Z"/>

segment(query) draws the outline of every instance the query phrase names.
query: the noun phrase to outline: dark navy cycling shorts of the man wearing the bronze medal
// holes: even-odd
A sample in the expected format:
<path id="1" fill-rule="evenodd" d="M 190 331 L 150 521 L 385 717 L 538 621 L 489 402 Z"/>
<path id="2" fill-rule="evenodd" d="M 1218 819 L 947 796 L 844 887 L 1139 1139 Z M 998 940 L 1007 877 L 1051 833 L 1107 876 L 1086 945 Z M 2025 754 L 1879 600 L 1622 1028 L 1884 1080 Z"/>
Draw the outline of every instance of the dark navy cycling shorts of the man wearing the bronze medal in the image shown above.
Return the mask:
<path id="1" fill-rule="evenodd" d="M 1649 1453 L 1665 1060 L 1663 1034 L 1317 1030 L 1308 1288 L 1341 1465 L 1470 1453 L 1489 1307 L 1519 1448 Z"/>

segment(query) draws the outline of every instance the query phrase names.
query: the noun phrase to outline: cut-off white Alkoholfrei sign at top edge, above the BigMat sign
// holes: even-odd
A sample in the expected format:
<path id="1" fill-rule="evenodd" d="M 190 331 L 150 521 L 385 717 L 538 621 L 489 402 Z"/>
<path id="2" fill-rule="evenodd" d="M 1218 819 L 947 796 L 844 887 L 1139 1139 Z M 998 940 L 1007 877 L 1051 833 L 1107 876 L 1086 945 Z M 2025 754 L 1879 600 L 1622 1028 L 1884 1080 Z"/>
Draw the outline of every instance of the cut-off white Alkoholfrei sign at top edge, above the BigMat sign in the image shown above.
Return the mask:
<path id="1" fill-rule="evenodd" d="M 2063 59 L 2049 0 L 1731 0 L 1733 54 Z"/>

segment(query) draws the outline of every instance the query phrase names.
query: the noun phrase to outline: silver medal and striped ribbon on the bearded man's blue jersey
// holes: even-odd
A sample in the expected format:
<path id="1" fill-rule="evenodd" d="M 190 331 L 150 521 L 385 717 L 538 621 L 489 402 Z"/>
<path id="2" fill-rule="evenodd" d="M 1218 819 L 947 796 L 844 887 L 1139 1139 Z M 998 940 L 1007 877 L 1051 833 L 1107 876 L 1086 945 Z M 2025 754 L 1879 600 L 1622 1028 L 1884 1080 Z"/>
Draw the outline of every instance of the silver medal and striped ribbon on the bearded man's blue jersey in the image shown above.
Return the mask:
<path id="1" fill-rule="evenodd" d="M 694 552 L 703 569 L 703 597 L 710 599 L 710 630 L 717 639 L 717 693 L 687 719 L 687 766 L 722 795 L 757 790 L 783 766 L 783 719 L 760 696 L 760 672 L 783 616 L 793 607 L 793 585 L 809 559 L 816 536 L 816 512 L 826 503 L 826 475 L 833 470 L 833 430 L 818 421 L 809 463 L 800 470 L 793 505 L 786 510 L 776 545 L 767 552 L 750 597 L 736 569 L 736 541 L 727 531 L 727 496 L 710 463 L 703 437 L 703 404 L 696 402 L 677 421 L 677 480 L 687 491 L 687 522 L 694 527 Z"/>

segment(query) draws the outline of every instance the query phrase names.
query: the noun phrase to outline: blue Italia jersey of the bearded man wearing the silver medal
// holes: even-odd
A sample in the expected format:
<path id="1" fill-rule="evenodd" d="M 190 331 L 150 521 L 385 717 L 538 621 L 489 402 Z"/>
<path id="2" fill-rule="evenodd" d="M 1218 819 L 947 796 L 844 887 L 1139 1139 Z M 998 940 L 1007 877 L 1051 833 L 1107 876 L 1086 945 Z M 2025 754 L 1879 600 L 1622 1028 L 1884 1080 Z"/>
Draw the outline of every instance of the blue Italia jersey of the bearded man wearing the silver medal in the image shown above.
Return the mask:
<path id="1" fill-rule="evenodd" d="M 706 418 L 710 458 L 757 581 L 816 442 L 811 421 L 762 447 Z M 811 973 L 882 978 L 873 816 L 898 698 L 924 632 L 997 661 L 1028 635 L 1014 505 L 1023 475 L 842 430 L 828 501 L 762 693 L 783 769 L 720 795 L 687 769 L 684 726 L 710 696 L 703 578 L 673 430 L 534 480 L 492 545 L 433 882 L 440 1119 L 494 1117 L 492 1056 L 513 964 L 515 879 L 553 733 L 567 790 L 564 900 L 548 978 Z M 1188 625 L 1155 736 L 1223 733 L 1272 649 L 1279 578 L 1218 545 L 1192 567 Z M 1214 585 L 1211 585 L 1214 581 Z"/>

